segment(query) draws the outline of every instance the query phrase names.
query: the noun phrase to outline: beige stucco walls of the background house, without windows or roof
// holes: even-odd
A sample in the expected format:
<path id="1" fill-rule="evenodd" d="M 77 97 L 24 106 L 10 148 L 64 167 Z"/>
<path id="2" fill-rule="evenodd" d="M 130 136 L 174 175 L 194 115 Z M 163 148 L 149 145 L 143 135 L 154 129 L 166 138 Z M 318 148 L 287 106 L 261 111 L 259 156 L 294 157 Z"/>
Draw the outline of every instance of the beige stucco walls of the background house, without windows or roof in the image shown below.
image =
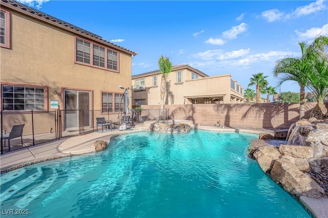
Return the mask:
<path id="1" fill-rule="evenodd" d="M 182 71 L 182 82 L 177 83 L 176 73 Z M 231 90 L 230 81 L 231 75 L 219 75 L 211 77 L 199 77 L 198 79 L 191 79 L 192 71 L 189 69 L 172 71 L 168 78 L 167 93 L 165 97 L 165 104 L 191 104 L 190 96 L 223 96 L 223 103 L 231 103 L 231 95 L 243 98 L 241 93 Z M 133 104 L 136 99 L 146 99 L 148 105 L 160 104 L 160 82 L 161 75 L 157 74 L 157 86 L 152 86 L 153 76 L 145 77 L 146 90 L 133 91 Z M 132 79 L 132 86 L 135 87 L 135 80 Z M 240 103 L 240 100 L 232 98 L 232 103 Z M 198 103 L 204 103 L 202 98 L 199 98 Z"/>

